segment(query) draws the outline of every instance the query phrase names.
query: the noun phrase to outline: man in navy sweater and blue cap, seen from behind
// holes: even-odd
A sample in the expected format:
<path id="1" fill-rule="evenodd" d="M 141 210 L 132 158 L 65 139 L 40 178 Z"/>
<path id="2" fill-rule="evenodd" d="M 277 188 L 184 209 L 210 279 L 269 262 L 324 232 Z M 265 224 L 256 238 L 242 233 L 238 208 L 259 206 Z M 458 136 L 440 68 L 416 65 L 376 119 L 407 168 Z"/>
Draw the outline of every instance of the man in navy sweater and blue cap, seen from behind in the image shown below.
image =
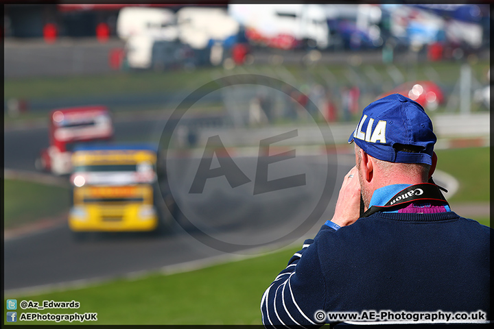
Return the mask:
<path id="1" fill-rule="evenodd" d="M 263 324 L 319 327 L 343 312 L 360 316 L 351 324 L 489 319 L 491 229 L 452 212 L 432 181 L 436 136 L 423 108 L 399 94 L 374 101 L 352 142 L 356 166 L 333 219 L 268 287 Z M 452 319 L 459 311 L 476 314 Z"/>

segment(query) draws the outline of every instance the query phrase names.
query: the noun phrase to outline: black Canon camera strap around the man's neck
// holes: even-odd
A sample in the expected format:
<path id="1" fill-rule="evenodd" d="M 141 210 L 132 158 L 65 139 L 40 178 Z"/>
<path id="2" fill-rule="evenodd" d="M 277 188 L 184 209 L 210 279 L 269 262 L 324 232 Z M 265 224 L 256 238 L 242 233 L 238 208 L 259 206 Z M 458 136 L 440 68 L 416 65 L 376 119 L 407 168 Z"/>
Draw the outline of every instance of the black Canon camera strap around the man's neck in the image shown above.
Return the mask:
<path id="1" fill-rule="evenodd" d="M 368 217 L 375 212 L 390 210 L 416 201 L 439 201 L 448 204 L 440 189 L 444 190 L 444 188 L 434 184 L 432 180 L 429 183 L 408 186 L 395 194 L 384 206 L 371 206 L 361 217 Z"/>

